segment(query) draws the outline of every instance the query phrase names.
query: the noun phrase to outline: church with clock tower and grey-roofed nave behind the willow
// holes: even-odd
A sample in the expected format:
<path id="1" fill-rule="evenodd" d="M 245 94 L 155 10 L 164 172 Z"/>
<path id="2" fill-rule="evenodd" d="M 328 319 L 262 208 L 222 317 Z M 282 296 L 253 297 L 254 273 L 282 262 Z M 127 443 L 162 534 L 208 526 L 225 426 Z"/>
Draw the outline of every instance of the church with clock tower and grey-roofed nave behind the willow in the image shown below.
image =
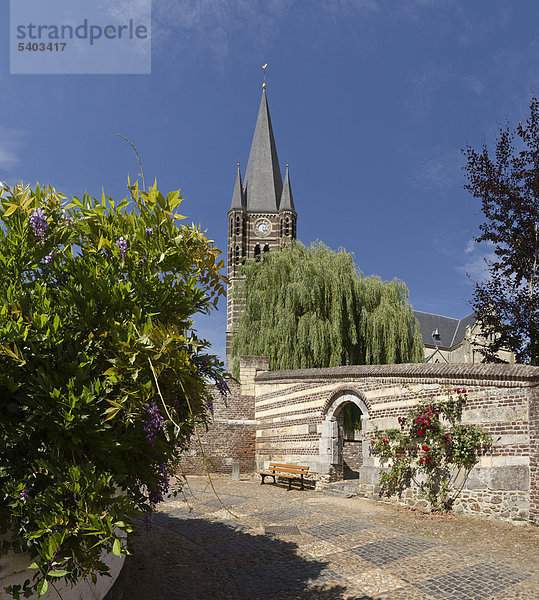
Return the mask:
<path id="1" fill-rule="evenodd" d="M 238 163 L 228 211 L 230 284 L 227 293 L 226 362 L 229 369 L 234 327 L 243 310 L 240 267 L 246 259 L 260 260 L 265 252 L 281 250 L 295 240 L 297 218 L 288 164 L 284 181 L 281 176 L 264 83 L 245 177 L 242 179 Z M 483 356 L 477 349 L 481 344 L 481 332 L 474 314 L 460 320 L 423 311 L 414 311 L 414 314 L 419 322 L 426 362 L 483 362 Z M 509 352 L 502 352 L 500 358 L 514 363 L 514 356 Z"/>

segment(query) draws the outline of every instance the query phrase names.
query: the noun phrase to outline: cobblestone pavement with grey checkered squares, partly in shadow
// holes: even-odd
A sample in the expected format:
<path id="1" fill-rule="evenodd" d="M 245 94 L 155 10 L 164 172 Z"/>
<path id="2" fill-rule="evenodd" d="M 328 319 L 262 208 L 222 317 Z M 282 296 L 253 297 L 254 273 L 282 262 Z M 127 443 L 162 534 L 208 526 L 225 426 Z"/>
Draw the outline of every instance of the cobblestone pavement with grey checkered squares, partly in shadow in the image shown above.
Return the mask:
<path id="1" fill-rule="evenodd" d="M 135 539 L 125 600 L 539 598 L 537 527 L 214 484 L 189 477 Z"/>

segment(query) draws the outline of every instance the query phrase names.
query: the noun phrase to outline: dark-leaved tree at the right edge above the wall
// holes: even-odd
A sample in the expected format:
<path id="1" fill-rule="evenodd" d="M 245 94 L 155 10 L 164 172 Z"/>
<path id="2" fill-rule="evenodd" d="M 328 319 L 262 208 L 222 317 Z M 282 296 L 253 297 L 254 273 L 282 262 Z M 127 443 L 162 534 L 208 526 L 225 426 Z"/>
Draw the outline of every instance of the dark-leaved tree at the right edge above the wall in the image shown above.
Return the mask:
<path id="1" fill-rule="evenodd" d="M 472 306 L 485 342 L 485 358 L 497 361 L 500 350 L 521 363 L 539 365 L 539 100 L 516 132 L 500 127 L 492 156 L 486 144 L 470 146 L 466 156 L 467 190 L 480 198 L 485 221 L 477 242 L 494 245 L 488 278 L 475 283 Z"/>

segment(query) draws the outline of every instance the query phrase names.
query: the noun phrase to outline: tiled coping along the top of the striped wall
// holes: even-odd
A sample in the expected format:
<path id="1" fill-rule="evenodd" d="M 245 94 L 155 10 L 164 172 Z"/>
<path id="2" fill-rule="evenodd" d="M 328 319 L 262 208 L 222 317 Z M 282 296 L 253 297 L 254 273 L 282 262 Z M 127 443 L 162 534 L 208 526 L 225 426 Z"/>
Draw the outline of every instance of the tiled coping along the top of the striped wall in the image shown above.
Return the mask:
<path id="1" fill-rule="evenodd" d="M 391 379 L 457 379 L 488 382 L 518 382 L 524 387 L 539 385 L 539 367 L 530 365 L 498 364 L 425 364 L 405 363 L 395 365 L 347 365 L 324 369 L 295 369 L 291 371 L 264 371 L 257 373 L 255 382 L 268 383 L 302 380 L 319 381 L 342 378 L 391 378 Z"/>

